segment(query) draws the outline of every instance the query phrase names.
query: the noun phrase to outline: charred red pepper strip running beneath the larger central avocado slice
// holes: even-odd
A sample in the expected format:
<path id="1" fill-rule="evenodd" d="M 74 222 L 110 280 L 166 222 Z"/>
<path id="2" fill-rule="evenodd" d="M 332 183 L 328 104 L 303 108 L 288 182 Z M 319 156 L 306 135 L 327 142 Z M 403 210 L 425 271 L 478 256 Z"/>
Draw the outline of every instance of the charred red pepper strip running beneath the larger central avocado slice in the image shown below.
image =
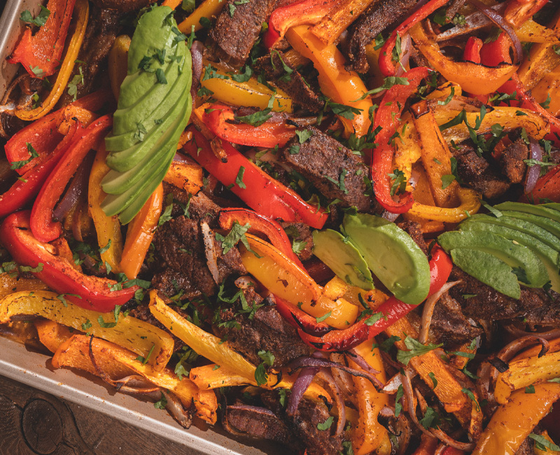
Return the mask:
<path id="1" fill-rule="evenodd" d="M 451 267 L 453 263 L 451 258 L 447 255 L 440 246 L 435 245 L 432 249 L 432 258 L 430 259 L 430 291 L 428 297 L 433 295 L 439 290 L 444 283 L 447 283 L 449 274 L 451 274 Z M 400 318 L 408 314 L 417 305 L 411 305 L 395 297 L 389 297 L 388 300 L 383 302 L 375 310 L 384 315 L 379 321 L 372 325 L 367 325 L 367 317 L 362 318 L 360 321 L 352 325 L 350 328 L 344 330 L 332 330 L 322 337 L 314 337 L 304 332 L 301 328 L 297 330 L 301 339 L 320 351 L 344 351 L 353 348 L 358 344 L 364 342 L 366 339 L 371 339 L 375 335 L 385 330 L 389 325 L 398 321 Z"/>

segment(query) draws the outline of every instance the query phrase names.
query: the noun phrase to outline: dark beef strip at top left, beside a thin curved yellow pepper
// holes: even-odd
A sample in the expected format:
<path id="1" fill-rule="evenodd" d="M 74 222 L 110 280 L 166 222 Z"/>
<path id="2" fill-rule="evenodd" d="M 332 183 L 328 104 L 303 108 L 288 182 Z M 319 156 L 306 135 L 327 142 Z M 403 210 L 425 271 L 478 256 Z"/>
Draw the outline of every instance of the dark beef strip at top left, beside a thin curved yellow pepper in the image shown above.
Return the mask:
<path id="1" fill-rule="evenodd" d="M 147 4 L 148 2 L 146 2 Z M 76 97 L 80 98 L 85 94 L 91 93 L 94 88 L 95 76 L 102 69 L 105 57 L 109 54 L 111 46 L 115 42 L 118 30 L 120 29 L 120 13 L 113 9 L 99 9 L 92 6 L 90 11 L 90 21 L 85 29 L 85 36 L 78 60 L 85 63 L 74 65 L 72 76 L 81 73 L 83 80 L 76 86 L 78 92 Z M 59 101 L 59 105 L 66 106 L 73 101 L 73 95 L 64 90 L 64 94 Z"/>

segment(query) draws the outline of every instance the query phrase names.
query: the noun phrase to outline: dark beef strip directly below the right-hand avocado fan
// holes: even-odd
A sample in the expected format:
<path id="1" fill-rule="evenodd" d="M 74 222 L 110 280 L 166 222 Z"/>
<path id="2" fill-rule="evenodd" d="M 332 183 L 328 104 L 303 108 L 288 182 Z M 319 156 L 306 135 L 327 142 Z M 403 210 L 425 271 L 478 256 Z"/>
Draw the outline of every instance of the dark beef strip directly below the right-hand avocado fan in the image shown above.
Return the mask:
<path id="1" fill-rule="evenodd" d="M 461 280 L 461 283 L 451 288 L 449 295 L 461 304 L 465 316 L 487 320 L 523 316 L 533 321 L 539 317 L 552 325 L 560 324 L 560 295 L 552 290 L 549 291 L 551 298 L 542 289 L 521 286 L 521 298 L 515 300 L 498 293 L 456 266 L 449 276 L 449 281 L 455 280 Z"/>

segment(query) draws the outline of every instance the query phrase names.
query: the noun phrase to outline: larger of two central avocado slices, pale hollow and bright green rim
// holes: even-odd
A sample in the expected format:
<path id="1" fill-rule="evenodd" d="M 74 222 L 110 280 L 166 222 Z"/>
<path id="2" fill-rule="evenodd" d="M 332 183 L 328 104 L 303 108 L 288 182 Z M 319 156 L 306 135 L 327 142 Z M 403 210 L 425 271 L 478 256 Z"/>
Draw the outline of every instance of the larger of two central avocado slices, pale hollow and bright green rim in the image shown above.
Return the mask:
<path id="1" fill-rule="evenodd" d="M 395 223 L 380 216 L 346 215 L 344 232 L 367 266 L 402 302 L 419 304 L 430 290 L 428 258 Z"/>

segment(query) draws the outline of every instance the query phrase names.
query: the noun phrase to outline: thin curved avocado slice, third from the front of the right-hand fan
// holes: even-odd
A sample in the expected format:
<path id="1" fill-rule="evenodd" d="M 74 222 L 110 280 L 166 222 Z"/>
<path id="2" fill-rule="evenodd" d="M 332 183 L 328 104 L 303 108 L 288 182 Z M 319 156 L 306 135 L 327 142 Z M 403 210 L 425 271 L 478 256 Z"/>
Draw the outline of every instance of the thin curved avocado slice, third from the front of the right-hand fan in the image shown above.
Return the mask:
<path id="1" fill-rule="evenodd" d="M 550 283 L 552 284 L 552 289 L 556 290 L 556 292 L 558 292 L 557 289 L 560 289 L 560 253 L 536 237 L 519 230 L 490 223 L 465 223 L 461 224 L 460 228 L 461 230 L 475 233 L 493 232 L 506 239 L 517 241 L 520 245 L 531 249 L 545 265 Z"/>

